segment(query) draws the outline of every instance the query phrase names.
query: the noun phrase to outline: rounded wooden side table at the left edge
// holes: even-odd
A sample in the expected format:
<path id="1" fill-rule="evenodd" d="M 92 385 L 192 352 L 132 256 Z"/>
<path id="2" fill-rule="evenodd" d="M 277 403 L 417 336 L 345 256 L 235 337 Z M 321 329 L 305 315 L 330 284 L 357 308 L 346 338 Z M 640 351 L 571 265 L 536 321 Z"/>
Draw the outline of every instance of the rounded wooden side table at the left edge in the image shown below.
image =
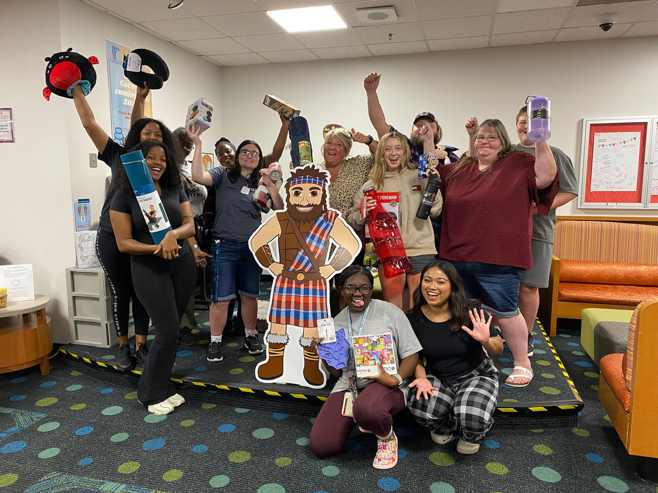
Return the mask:
<path id="1" fill-rule="evenodd" d="M 49 302 L 48 296 L 35 294 L 34 300 L 8 302 L 0 308 L 0 373 L 34 365 L 41 366 L 41 375 L 50 372 L 53 334 L 45 314 Z"/>

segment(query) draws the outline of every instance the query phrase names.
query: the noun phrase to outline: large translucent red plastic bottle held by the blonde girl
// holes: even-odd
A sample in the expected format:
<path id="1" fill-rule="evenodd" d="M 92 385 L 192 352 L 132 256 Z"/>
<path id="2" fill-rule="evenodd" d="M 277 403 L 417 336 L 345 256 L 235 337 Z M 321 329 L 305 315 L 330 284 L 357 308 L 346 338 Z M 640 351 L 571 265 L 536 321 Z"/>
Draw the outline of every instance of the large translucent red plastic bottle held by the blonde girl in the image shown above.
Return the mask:
<path id="1" fill-rule="evenodd" d="M 364 197 L 375 200 L 377 200 L 376 193 L 374 187 L 368 187 L 363 191 Z M 397 223 L 391 214 L 384 210 L 379 200 L 377 206 L 368 212 L 368 229 L 379 260 L 382 262 L 386 279 L 411 271 L 411 262 L 407 258 Z"/>

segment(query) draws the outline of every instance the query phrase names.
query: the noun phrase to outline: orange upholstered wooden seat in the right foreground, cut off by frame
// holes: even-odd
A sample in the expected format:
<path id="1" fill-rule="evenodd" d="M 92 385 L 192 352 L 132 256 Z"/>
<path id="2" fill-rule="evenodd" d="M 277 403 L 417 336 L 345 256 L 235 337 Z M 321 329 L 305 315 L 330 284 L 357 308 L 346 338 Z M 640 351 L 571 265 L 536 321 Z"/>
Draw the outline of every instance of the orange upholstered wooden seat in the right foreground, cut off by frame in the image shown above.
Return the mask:
<path id="1" fill-rule="evenodd" d="M 641 302 L 630 319 L 624 354 L 599 362 L 599 400 L 632 456 L 637 473 L 658 481 L 658 297 Z"/>

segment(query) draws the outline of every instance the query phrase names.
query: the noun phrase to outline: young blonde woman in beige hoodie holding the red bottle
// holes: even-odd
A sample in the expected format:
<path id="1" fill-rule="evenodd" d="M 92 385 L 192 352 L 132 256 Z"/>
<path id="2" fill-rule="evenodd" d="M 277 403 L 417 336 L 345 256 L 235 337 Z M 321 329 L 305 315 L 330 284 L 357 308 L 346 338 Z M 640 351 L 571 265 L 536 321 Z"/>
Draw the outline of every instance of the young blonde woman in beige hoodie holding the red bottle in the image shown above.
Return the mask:
<path id="1" fill-rule="evenodd" d="M 409 162 L 410 152 L 407 139 L 401 133 L 393 131 L 382 137 L 375 153 L 370 179 L 355 194 L 351 211 L 347 216 L 347 222 L 356 231 L 363 230 L 365 219 L 361 219 L 359 211 L 363 190 L 375 187 L 378 192 L 399 193 L 397 225 L 412 269 L 406 274 L 390 279 L 383 275 L 380 276 L 384 300 L 395 304 L 398 308 L 403 308 L 405 283 L 409 287 L 409 306 L 413 305 L 411 293 L 418 287 L 420 271 L 436 256 L 434 232 L 430 218 L 419 219 L 416 217 L 428 179 L 426 177 L 418 179 L 415 164 Z M 430 217 L 434 218 L 441 213 L 442 204 L 441 194 L 438 193 L 430 210 Z M 376 200 L 368 199 L 366 212 L 374 209 L 375 205 Z"/>

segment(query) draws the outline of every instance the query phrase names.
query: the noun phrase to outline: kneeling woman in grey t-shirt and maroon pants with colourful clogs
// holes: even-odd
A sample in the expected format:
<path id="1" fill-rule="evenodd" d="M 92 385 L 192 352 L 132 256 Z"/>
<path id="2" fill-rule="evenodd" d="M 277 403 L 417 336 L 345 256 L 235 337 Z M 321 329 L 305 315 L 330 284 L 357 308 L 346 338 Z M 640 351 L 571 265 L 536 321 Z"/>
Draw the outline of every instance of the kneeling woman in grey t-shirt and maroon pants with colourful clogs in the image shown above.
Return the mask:
<path id="1" fill-rule="evenodd" d="M 319 458 L 340 454 L 355 426 L 377 437 L 377 454 L 372 461 L 377 469 L 390 469 L 397 463 L 397 436 L 393 433 L 393 414 L 405 408 L 409 387 L 405 379 L 418 364 L 421 347 L 409 321 L 397 306 L 382 300 L 370 300 L 374 280 L 363 266 L 348 266 L 338 275 L 336 285 L 347 307 L 334 318 L 336 331 L 345 331 L 347 364 L 335 369 L 338 383 L 322 406 L 311 429 L 311 451 Z M 378 363 L 378 375 L 356 376 L 351 338 L 358 335 L 391 333 L 397 374 L 386 373 Z M 315 348 L 318 340 L 312 347 Z M 344 361 L 344 359 L 343 359 Z M 325 364 L 327 363 L 324 361 Z M 343 400 L 352 401 L 351 412 L 343 410 Z"/>

